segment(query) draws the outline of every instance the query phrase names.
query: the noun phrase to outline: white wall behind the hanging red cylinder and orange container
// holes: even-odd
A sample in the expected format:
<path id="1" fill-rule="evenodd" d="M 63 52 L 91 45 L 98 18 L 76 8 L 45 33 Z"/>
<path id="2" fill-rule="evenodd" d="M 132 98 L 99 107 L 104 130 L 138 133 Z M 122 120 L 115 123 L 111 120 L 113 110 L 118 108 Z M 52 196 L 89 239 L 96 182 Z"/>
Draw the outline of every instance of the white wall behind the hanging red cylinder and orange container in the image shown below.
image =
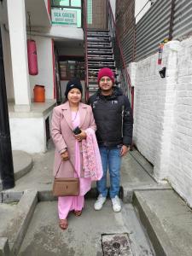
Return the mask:
<path id="1" fill-rule="evenodd" d="M 38 75 L 30 75 L 31 96 L 33 98 L 33 88 L 35 84 L 45 86 L 45 98 L 54 98 L 54 73 L 51 38 L 32 37 L 37 44 L 38 52 Z"/>

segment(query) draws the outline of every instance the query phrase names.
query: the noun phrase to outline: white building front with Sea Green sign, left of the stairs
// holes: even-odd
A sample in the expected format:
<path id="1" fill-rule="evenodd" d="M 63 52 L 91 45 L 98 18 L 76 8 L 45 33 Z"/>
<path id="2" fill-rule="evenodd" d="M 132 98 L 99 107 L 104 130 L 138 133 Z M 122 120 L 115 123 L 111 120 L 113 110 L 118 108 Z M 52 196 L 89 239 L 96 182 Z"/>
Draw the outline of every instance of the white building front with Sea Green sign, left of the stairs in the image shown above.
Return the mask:
<path id="1" fill-rule="evenodd" d="M 107 6 L 98 2 L 86 1 L 87 18 L 102 30 Z M 84 1 L 3 0 L 0 24 L 12 148 L 45 152 L 52 109 L 64 100 L 67 81 L 75 76 L 84 85 Z M 36 75 L 29 74 L 27 39 L 36 43 Z M 34 102 L 37 84 L 45 102 Z"/>

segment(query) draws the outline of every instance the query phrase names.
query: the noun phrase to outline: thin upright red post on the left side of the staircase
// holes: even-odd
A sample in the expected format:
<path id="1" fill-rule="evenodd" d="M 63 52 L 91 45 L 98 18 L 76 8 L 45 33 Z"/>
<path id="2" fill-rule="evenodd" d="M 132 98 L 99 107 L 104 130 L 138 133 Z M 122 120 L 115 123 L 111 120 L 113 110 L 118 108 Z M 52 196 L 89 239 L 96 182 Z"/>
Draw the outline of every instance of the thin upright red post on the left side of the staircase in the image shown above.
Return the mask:
<path id="1" fill-rule="evenodd" d="M 84 70 L 85 70 L 85 101 L 89 99 L 88 87 L 88 54 L 87 54 L 87 1 L 84 0 Z"/>

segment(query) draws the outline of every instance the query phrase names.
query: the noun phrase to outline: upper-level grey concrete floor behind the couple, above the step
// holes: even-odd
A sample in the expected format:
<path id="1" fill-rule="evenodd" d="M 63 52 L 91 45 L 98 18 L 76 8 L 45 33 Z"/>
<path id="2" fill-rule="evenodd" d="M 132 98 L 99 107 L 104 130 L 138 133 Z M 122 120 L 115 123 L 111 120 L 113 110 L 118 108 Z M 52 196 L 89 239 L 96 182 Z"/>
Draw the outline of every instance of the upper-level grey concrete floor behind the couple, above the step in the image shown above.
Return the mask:
<path id="1" fill-rule="evenodd" d="M 37 189 L 38 191 L 50 191 L 53 182 L 53 164 L 54 164 L 55 148 L 52 143 L 49 143 L 49 150 L 44 154 L 32 154 L 33 166 L 31 172 L 27 173 L 16 181 L 14 191 L 23 191 L 25 189 Z M 109 181 L 108 181 L 109 184 Z M 127 154 L 122 160 L 121 167 L 121 184 L 124 189 L 134 189 L 134 186 L 142 187 L 147 185 L 151 188 L 156 186 L 148 172 L 132 157 Z M 165 185 L 166 186 L 166 185 Z M 96 187 L 96 183 L 92 183 L 92 188 Z M 160 189 L 164 185 L 160 186 Z"/>

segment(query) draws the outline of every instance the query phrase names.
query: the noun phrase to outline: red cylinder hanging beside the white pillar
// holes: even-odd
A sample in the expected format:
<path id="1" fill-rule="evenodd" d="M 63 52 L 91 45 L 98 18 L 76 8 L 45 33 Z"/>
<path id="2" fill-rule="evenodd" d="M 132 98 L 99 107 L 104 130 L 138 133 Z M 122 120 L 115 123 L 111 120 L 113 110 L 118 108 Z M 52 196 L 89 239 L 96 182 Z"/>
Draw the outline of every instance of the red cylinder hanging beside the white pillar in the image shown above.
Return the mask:
<path id="1" fill-rule="evenodd" d="M 27 55 L 29 73 L 34 76 L 38 74 L 38 55 L 36 43 L 32 39 L 27 39 Z"/>

